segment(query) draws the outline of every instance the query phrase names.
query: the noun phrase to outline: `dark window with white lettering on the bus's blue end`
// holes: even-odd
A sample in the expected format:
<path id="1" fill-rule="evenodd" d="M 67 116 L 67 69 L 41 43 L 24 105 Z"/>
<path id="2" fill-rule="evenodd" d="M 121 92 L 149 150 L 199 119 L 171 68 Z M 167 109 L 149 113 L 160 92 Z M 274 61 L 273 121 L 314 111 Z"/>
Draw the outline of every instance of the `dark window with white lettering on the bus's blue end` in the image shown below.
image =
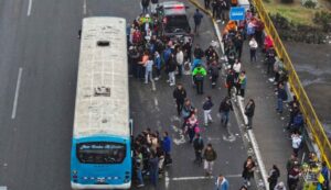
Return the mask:
<path id="1" fill-rule="evenodd" d="M 77 144 L 77 158 L 84 164 L 120 164 L 126 157 L 126 145 L 121 143 Z"/>

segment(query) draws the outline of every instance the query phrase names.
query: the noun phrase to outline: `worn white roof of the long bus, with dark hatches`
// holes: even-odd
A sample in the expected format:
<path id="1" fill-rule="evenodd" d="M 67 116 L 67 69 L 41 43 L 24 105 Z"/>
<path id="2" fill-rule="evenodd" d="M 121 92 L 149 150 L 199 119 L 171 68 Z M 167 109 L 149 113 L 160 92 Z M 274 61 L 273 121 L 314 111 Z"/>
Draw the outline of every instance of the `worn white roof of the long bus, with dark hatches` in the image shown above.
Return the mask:
<path id="1" fill-rule="evenodd" d="M 126 20 L 83 20 L 74 137 L 128 137 L 129 92 Z"/>

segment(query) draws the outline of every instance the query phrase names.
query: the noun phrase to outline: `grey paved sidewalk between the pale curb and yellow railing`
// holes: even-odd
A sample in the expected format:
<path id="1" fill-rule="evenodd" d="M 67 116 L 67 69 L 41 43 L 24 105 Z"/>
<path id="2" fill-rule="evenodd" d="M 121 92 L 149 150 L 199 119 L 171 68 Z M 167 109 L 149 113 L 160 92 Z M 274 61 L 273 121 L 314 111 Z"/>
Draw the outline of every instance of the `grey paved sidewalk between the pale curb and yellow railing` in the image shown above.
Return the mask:
<path id="1" fill-rule="evenodd" d="M 200 3 L 200 7 L 203 8 L 203 0 L 191 1 Z M 209 16 L 206 15 L 205 18 Z M 223 26 L 224 25 L 218 23 L 218 30 L 221 32 L 223 31 Z M 248 42 L 246 41 L 243 46 L 242 55 L 242 67 L 247 74 L 244 105 L 250 98 L 255 100 L 256 109 L 253 118 L 253 133 L 266 167 L 266 174 L 268 175 L 273 165 L 277 165 L 280 169 L 280 178 L 278 181 L 286 182 L 286 163 L 292 153 L 291 139 L 285 130 L 288 123 L 288 113 L 286 108 L 282 115 L 277 114 L 275 110 L 276 94 L 273 83 L 268 81 L 268 78 L 271 76 L 267 76 L 266 66 L 261 63 L 263 59 L 264 55 L 258 51 L 257 63 L 249 63 Z M 302 156 L 299 156 L 299 158 L 301 157 Z"/>

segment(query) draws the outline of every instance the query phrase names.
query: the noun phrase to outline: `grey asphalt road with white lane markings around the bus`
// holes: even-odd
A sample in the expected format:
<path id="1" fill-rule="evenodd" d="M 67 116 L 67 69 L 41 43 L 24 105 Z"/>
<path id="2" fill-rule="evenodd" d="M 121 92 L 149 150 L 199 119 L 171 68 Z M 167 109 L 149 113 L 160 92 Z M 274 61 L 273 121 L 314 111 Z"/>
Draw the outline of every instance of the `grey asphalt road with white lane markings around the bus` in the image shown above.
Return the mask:
<path id="1" fill-rule="evenodd" d="M 194 8 L 190 9 L 190 15 Z M 2 0 L 0 1 L 0 186 L 10 190 L 68 190 L 70 150 L 78 62 L 77 30 L 86 15 L 117 15 L 132 20 L 139 13 L 138 3 L 118 0 Z M 205 20 L 207 20 L 205 18 Z M 196 42 L 203 47 L 211 42 L 213 27 L 206 22 Z M 190 83 L 189 77 L 183 79 Z M 170 118 L 175 112 L 172 88 L 157 83 L 157 92 L 139 81 L 131 80 L 131 109 L 135 132 L 145 127 L 168 130 L 179 125 Z M 201 108 L 189 86 L 189 96 Z M 224 89 L 211 90 L 216 107 Z M 159 111 L 156 111 L 158 100 Z M 232 115 L 232 132 L 238 134 L 234 143 L 223 141 L 226 131 L 215 123 L 204 132 L 215 145 L 218 159 L 215 172 L 231 175 L 234 189 L 242 183 L 237 176 L 246 158 L 241 133 Z M 201 115 L 200 115 L 200 119 Z M 160 121 L 160 125 L 158 125 Z M 160 130 L 160 128 L 159 128 Z M 184 180 L 200 177 L 202 168 L 192 165 L 193 150 L 188 144 L 174 145 L 174 164 L 169 169 L 169 189 L 211 189 L 212 180 Z M 161 181 L 161 189 L 166 181 Z"/>

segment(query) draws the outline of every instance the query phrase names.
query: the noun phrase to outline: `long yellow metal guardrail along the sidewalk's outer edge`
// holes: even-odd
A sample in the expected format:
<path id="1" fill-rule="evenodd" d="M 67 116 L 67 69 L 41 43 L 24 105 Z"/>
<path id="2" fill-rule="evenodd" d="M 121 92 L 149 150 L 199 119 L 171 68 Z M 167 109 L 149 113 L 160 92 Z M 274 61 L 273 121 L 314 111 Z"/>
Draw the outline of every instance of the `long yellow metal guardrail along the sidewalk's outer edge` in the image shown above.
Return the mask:
<path id="1" fill-rule="evenodd" d="M 322 160 L 324 160 L 328 164 L 328 167 L 331 168 L 331 144 L 328 139 L 328 136 L 325 135 L 324 128 L 318 119 L 314 109 L 312 108 L 312 104 L 302 87 L 302 83 L 298 77 L 297 71 L 295 70 L 293 64 L 291 59 L 289 58 L 286 48 L 273 24 L 273 21 L 270 16 L 268 15 L 264 3 L 261 0 L 253 0 L 252 1 L 257 9 L 257 12 L 265 23 L 265 30 L 266 32 L 271 35 L 274 40 L 274 46 L 279 57 L 284 59 L 284 64 L 286 65 L 286 68 L 289 74 L 289 83 L 291 86 L 291 89 L 293 93 L 297 96 L 300 107 L 302 110 L 302 113 L 306 119 L 306 123 L 308 126 L 309 132 L 312 134 L 312 141 L 318 145 L 318 148 L 321 154 Z"/>

